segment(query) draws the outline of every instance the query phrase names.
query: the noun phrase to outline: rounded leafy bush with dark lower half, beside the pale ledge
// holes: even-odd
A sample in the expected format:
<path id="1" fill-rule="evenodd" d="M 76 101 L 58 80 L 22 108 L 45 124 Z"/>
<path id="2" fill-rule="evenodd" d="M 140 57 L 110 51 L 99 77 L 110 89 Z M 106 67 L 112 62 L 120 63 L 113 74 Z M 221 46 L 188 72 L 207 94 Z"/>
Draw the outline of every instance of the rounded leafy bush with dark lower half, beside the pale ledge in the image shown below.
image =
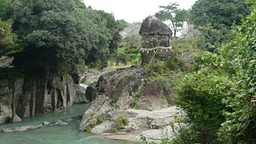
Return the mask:
<path id="1" fill-rule="evenodd" d="M 222 99 L 230 93 L 232 81 L 221 69 L 222 58 L 203 52 L 195 58 L 196 72 L 187 74 L 177 86 L 176 103 L 186 112 L 187 125 L 198 143 L 218 143 L 218 129 L 225 121 Z M 194 135 L 194 134 L 191 134 Z"/>

